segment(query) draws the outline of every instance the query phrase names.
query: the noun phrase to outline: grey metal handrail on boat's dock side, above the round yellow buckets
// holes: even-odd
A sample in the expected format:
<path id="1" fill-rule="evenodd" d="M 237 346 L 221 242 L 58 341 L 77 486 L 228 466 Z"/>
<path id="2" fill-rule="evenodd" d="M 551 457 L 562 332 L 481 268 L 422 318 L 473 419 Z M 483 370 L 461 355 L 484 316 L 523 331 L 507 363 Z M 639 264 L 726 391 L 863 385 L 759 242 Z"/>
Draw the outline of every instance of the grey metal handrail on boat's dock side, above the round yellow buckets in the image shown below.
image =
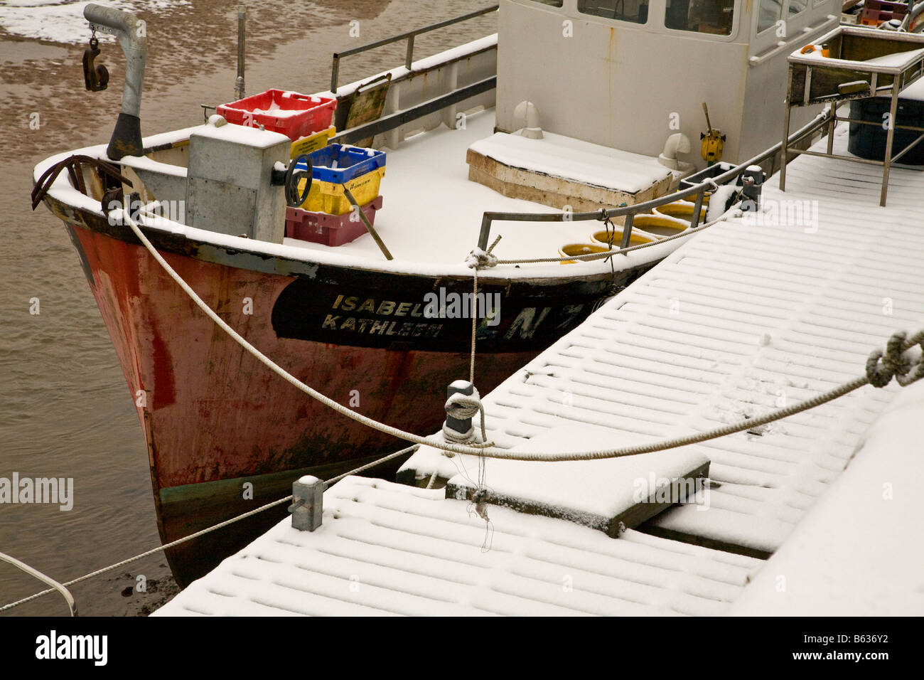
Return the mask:
<path id="1" fill-rule="evenodd" d="M 826 107 L 818 116 L 814 117 L 807 125 L 802 127 L 799 130 L 796 130 L 792 135 L 790 135 L 787 142 L 788 145 L 796 144 L 802 140 L 802 138 L 811 134 L 815 130 L 819 130 L 824 127 L 825 124 L 829 121 L 831 117 L 832 109 L 831 107 Z M 590 213 L 495 213 L 495 212 L 485 212 L 481 216 L 481 231 L 478 237 L 478 247 L 481 250 L 486 250 L 488 247 L 488 238 L 491 234 L 491 225 L 492 222 L 503 221 L 503 222 L 580 222 L 590 219 L 595 220 L 606 220 L 611 217 L 621 217 L 626 216 L 626 226 L 623 229 L 623 241 L 624 247 L 628 244 L 628 238 L 631 236 L 632 231 L 632 218 L 638 213 L 649 212 L 651 208 L 657 208 L 665 204 L 674 203 L 681 199 L 687 198 L 696 194 L 696 205 L 693 209 L 693 220 L 691 222 L 691 228 L 696 229 L 699 224 L 699 209 L 702 207 L 702 199 L 705 191 L 707 189 L 714 189 L 715 185 L 722 184 L 729 179 L 737 179 L 737 177 L 743 174 L 748 167 L 756 166 L 767 158 L 772 157 L 783 148 L 783 142 L 776 142 L 766 151 L 760 153 L 759 155 L 754 156 L 753 158 L 748 159 L 744 163 L 732 167 L 731 169 L 725 170 L 721 175 L 715 178 L 708 179 L 699 184 L 695 184 L 692 187 L 687 189 L 682 189 L 674 193 L 669 193 L 662 196 L 661 198 L 651 199 L 645 203 L 634 204 L 634 205 L 625 205 L 616 208 L 602 208 L 600 210 L 595 210 Z"/>

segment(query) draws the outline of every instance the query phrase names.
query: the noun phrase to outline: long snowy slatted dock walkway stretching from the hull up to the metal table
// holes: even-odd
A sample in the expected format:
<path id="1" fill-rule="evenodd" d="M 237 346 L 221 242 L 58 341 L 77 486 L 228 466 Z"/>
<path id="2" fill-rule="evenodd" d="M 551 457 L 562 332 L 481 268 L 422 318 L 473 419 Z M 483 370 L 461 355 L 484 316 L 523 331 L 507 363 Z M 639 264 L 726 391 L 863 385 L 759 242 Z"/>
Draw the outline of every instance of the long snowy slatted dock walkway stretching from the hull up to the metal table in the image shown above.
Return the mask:
<path id="1" fill-rule="evenodd" d="M 845 128 L 836 146 L 845 153 Z M 800 156 L 788 173 L 787 192 L 775 178 L 765 186 L 756 219 L 730 219 L 687 241 L 487 395 L 488 438 L 513 448 L 555 427 L 588 424 L 611 428 L 615 448 L 627 437 L 719 427 L 862 375 L 869 352 L 895 330 L 922 328 L 924 174 L 894 169 L 881 208 L 879 167 Z M 687 447 L 711 460 L 709 511 L 678 506 L 650 530 L 772 553 L 897 389 L 865 387 Z M 405 469 L 451 477 L 475 465 L 425 448 Z M 486 463 L 488 488 L 498 465 Z M 599 469 L 587 474 L 600 486 Z M 582 502 L 575 494 L 572 504 Z"/>

